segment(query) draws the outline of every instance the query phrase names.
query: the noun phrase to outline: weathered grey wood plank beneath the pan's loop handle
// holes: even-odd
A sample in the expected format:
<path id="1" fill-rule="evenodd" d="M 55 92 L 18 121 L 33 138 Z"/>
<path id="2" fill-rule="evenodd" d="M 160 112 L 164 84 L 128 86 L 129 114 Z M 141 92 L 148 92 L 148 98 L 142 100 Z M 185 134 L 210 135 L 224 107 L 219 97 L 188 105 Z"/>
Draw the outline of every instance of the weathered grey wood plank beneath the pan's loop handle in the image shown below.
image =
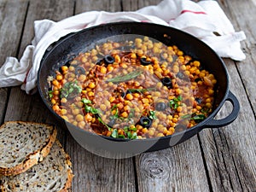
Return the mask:
<path id="1" fill-rule="evenodd" d="M 230 90 L 241 103 L 241 112 L 231 125 L 202 131 L 202 148 L 213 191 L 253 191 L 256 189 L 256 122 L 246 93 L 241 90 L 234 62 L 226 60 L 225 63 L 230 72 Z M 230 110 L 227 103 L 218 113 L 218 118 L 223 118 Z"/>

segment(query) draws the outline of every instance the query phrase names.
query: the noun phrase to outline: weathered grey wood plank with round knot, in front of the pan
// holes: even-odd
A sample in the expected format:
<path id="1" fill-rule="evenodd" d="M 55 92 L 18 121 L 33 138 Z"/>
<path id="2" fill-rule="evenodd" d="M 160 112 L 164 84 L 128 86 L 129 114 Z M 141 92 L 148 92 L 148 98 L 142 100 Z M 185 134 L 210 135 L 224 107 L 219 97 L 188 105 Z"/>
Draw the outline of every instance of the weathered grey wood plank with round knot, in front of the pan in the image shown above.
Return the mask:
<path id="1" fill-rule="evenodd" d="M 139 191 L 209 191 L 197 137 L 173 148 L 137 156 Z"/>

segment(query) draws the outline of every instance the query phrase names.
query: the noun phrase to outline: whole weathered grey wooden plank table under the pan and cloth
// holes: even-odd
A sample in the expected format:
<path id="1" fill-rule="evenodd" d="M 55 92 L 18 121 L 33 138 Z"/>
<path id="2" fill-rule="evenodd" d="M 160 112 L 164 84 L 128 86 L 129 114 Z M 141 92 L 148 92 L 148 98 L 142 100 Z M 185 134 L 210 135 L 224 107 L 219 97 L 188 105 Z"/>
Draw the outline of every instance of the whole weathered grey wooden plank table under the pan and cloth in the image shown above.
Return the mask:
<path id="1" fill-rule="evenodd" d="M 89 10 L 130 11 L 160 0 L 0 0 L 0 66 L 7 56 L 20 58 L 33 38 L 33 21 L 61 20 Z M 173 148 L 124 160 L 91 154 L 58 127 L 58 138 L 73 162 L 73 191 L 256 191 L 256 3 L 218 0 L 236 31 L 243 30 L 245 61 L 224 59 L 230 90 L 241 112 L 226 127 L 205 129 Z M 20 87 L 0 89 L 0 122 L 9 120 L 55 124 L 38 94 Z M 218 118 L 229 112 L 228 103 Z"/>

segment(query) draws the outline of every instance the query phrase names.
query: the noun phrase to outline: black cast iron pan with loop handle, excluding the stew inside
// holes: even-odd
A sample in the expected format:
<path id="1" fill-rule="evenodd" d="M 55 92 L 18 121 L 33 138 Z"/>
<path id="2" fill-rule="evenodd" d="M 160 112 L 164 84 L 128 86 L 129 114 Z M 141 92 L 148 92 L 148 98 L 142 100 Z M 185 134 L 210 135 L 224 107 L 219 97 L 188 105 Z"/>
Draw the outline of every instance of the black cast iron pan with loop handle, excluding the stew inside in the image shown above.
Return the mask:
<path id="1" fill-rule="evenodd" d="M 213 73 L 218 81 L 218 94 L 215 96 L 213 112 L 207 119 L 190 129 L 174 133 L 172 136 L 143 140 L 100 137 L 95 133 L 84 131 L 69 124 L 64 119 L 61 119 L 61 117 L 50 108 L 48 96 L 49 84 L 46 80 L 48 76 L 55 75 L 56 69 L 65 65 L 67 61 L 72 60 L 75 55 L 78 55 L 79 52 L 83 52 L 84 49 L 89 47 L 92 48 L 95 44 L 98 44 L 98 42 L 113 36 L 117 36 L 118 39 L 116 40 L 119 41 L 119 38 L 122 38 L 122 36 L 120 36 L 122 34 L 124 34 L 124 37 L 125 34 L 138 34 L 157 39 L 166 45 L 177 45 L 177 47 L 183 50 L 185 54 L 191 55 L 194 59 L 201 61 L 203 67 L 210 71 L 210 73 Z M 236 96 L 229 90 L 229 76 L 227 69 L 224 66 L 224 62 L 209 46 L 207 46 L 207 44 L 204 44 L 201 40 L 186 32 L 181 32 L 168 26 L 160 26 L 150 23 L 110 23 L 90 27 L 83 31 L 69 34 L 65 38 L 61 38 L 46 51 L 44 58 L 41 61 L 41 66 L 38 71 L 38 90 L 44 104 L 49 108 L 49 111 L 67 126 L 67 129 L 81 146 L 93 153 L 110 158 L 129 157 L 143 152 L 169 148 L 177 143 L 183 143 L 203 128 L 229 125 L 236 119 L 240 109 Z M 214 119 L 218 110 L 226 101 L 229 101 L 232 104 L 232 111 L 224 119 Z"/>

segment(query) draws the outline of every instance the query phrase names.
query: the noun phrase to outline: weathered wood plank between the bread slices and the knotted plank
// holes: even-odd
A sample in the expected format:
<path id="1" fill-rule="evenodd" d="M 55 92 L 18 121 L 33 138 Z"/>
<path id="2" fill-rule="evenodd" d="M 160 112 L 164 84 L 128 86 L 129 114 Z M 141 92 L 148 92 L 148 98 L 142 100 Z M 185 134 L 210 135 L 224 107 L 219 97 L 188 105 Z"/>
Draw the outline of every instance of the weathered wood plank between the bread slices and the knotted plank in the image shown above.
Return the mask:
<path id="1" fill-rule="evenodd" d="M 73 191 L 136 191 L 132 159 L 112 160 L 91 154 L 67 136 L 67 152 L 75 170 Z"/>

